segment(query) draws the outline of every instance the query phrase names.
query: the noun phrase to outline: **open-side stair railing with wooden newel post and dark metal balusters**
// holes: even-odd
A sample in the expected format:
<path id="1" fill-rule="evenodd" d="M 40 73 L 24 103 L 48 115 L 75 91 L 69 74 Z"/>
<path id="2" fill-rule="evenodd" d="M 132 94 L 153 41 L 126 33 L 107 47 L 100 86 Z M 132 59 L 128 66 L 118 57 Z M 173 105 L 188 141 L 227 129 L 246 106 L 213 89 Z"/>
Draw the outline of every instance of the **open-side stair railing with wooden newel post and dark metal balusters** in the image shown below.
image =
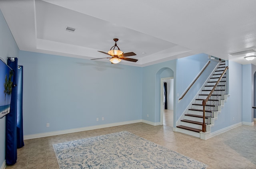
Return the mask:
<path id="1" fill-rule="evenodd" d="M 220 105 L 220 100 L 224 99 L 224 94 L 227 94 L 227 76 L 226 71 L 228 66 L 224 69 L 223 73 L 220 75 L 218 81 L 208 94 L 207 98 L 202 101 L 203 105 L 203 125 L 202 132 L 206 132 L 206 124 L 211 124 L 211 118 L 214 117 L 214 111 L 218 109 Z M 211 101 L 210 104 L 207 104 L 208 101 Z M 217 104 L 216 104 L 217 103 Z M 207 107 L 208 110 L 205 110 Z"/>

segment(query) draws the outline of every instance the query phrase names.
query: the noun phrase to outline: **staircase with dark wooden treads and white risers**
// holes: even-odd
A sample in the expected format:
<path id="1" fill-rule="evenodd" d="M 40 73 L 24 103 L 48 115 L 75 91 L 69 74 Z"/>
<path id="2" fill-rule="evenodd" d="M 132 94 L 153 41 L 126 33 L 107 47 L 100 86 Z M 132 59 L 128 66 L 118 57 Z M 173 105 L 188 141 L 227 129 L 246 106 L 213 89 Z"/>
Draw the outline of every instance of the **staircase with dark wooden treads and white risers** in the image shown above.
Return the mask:
<path id="1" fill-rule="evenodd" d="M 218 79 L 222 75 L 226 68 L 225 61 L 219 63 L 218 67 L 214 71 L 213 75 L 208 79 L 208 82 L 203 87 L 203 90 L 198 94 L 196 99 L 190 105 L 186 114 L 182 116 L 182 120 L 177 123 L 177 132 L 189 134 L 200 138 L 203 125 L 203 104 L 202 101 L 206 99 L 211 92 L 214 85 L 216 85 Z M 214 92 L 210 96 L 205 106 L 205 124 L 206 132 L 210 132 L 210 127 L 214 126 L 214 120 L 218 119 L 218 114 L 221 113 L 221 107 L 224 106 L 224 102 L 227 100 L 227 85 L 226 85 L 226 73 L 219 81 Z"/>

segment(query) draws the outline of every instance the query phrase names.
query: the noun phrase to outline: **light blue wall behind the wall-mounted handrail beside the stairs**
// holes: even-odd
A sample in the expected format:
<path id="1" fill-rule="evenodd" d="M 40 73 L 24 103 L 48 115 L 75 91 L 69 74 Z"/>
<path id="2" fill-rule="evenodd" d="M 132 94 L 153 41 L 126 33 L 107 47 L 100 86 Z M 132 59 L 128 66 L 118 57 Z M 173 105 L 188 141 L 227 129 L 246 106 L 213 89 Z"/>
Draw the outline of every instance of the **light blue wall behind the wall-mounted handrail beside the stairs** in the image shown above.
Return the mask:
<path id="1" fill-rule="evenodd" d="M 179 101 L 179 98 L 186 91 L 188 86 L 194 81 L 206 63 L 209 61 L 208 55 L 200 54 L 190 56 L 188 59 L 181 58 L 177 61 L 177 71 L 176 71 L 176 116 L 175 122 L 179 120 L 186 108 L 190 105 L 191 101 L 194 99 L 196 94 L 200 91 L 208 77 L 212 74 L 212 71 L 218 65 L 218 61 L 211 60 L 211 63 L 208 65 L 206 70 L 198 78 L 196 83 L 190 88 L 188 93 L 184 96 L 182 100 Z"/>

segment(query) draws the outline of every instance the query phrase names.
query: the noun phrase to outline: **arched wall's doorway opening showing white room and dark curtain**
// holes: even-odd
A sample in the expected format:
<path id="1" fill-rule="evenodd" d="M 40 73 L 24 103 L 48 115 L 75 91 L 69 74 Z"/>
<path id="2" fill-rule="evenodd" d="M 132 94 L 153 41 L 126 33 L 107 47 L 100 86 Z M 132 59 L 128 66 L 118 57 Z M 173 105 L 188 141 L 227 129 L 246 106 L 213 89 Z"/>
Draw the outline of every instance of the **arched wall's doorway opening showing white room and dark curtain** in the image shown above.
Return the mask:
<path id="1" fill-rule="evenodd" d="M 173 127 L 174 117 L 174 79 L 161 78 L 161 124 Z"/>

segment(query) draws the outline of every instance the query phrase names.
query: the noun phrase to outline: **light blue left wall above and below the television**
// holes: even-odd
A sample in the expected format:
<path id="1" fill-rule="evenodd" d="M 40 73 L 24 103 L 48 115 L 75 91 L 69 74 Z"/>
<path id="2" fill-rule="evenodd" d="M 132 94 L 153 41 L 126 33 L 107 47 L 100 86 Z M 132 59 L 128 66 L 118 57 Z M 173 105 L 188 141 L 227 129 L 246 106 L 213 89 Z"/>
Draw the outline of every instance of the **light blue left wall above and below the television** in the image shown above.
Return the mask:
<path id="1" fill-rule="evenodd" d="M 2 12 L 0 11 L 0 57 L 7 63 L 7 57 L 18 57 L 19 48 Z M 0 167 L 5 160 L 5 117 L 0 119 Z"/>

